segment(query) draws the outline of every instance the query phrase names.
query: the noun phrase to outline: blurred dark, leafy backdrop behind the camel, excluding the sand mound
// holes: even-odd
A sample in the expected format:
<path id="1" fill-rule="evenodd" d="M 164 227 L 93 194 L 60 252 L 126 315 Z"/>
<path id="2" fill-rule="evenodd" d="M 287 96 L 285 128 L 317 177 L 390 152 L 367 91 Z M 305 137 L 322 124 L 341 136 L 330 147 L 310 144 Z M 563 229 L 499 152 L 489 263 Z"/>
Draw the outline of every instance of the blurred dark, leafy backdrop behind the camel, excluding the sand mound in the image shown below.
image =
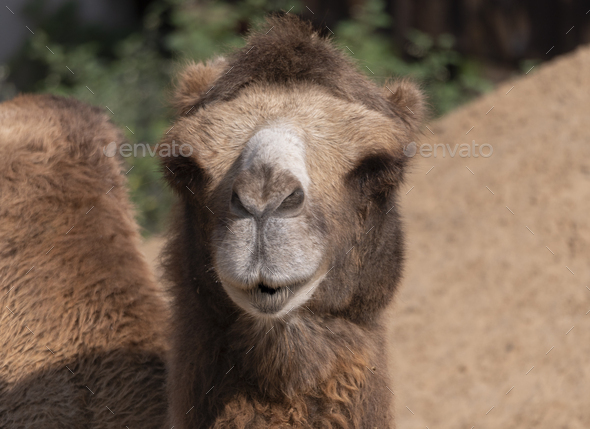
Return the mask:
<path id="1" fill-rule="evenodd" d="M 112 111 L 131 142 L 171 125 L 167 94 L 186 59 L 243 45 L 271 11 L 314 21 L 372 79 L 411 76 L 435 116 L 590 41 L 581 0 L 8 0 L 0 11 L 0 100 L 72 95 Z M 570 29 L 570 27 L 572 27 Z M 351 54 L 354 53 L 354 55 Z M 127 158 L 145 235 L 171 196 L 154 158 Z"/>

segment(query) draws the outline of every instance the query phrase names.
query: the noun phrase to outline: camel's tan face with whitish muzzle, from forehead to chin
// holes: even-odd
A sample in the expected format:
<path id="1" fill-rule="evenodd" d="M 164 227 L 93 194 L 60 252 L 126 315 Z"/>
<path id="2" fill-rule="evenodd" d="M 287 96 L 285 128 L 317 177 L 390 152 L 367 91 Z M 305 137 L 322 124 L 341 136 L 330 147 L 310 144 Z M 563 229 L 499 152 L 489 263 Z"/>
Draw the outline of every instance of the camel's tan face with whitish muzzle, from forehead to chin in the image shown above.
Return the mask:
<path id="1" fill-rule="evenodd" d="M 406 143 L 381 113 L 309 84 L 254 85 L 181 117 L 173 131 L 192 154 L 168 167 L 173 180 L 193 180 L 178 189 L 205 210 L 219 285 L 262 318 L 284 317 L 324 289 L 350 247 L 342 242 L 361 233 L 366 163 L 380 160 L 369 175 L 387 175 L 383 188 L 393 189 Z"/>

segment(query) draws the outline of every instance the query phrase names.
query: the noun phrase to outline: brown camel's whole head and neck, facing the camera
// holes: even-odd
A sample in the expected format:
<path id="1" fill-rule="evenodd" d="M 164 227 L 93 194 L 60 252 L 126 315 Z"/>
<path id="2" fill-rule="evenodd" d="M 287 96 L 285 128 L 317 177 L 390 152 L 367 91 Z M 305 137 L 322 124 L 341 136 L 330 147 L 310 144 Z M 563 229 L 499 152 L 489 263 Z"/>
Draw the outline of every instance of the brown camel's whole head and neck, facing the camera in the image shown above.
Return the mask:
<path id="1" fill-rule="evenodd" d="M 178 196 L 169 427 L 392 428 L 384 312 L 400 281 L 396 195 L 425 110 L 309 23 L 274 16 L 191 63 L 161 156 Z"/>

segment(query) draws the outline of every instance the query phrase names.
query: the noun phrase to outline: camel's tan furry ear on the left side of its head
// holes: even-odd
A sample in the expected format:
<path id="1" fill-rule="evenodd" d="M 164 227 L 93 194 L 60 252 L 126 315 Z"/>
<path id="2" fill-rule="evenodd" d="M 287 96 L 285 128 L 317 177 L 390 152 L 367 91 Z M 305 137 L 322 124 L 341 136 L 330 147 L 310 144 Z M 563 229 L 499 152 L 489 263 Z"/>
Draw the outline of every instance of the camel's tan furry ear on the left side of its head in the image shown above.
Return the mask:
<path id="1" fill-rule="evenodd" d="M 223 57 L 203 63 L 189 63 L 180 73 L 172 105 L 178 115 L 186 114 L 215 84 L 227 61 Z"/>

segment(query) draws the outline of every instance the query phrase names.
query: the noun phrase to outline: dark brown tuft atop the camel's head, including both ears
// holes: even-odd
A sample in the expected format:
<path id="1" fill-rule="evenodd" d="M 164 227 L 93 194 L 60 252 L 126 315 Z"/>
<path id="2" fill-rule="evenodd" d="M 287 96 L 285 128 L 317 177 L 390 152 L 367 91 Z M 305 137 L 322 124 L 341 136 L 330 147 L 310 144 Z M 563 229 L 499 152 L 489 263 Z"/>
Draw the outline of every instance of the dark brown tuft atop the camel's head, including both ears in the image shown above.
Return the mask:
<path id="1" fill-rule="evenodd" d="M 227 60 L 190 64 L 179 78 L 173 103 L 179 114 L 194 114 L 207 104 L 232 100 L 245 88 L 260 83 L 313 83 L 338 98 L 388 116 L 406 126 L 409 134 L 416 131 L 426 111 L 417 85 L 401 80 L 388 84 L 391 92 L 379 88 L 331 39 L 295 15 L 267 17 L 263 26 L 250 32 L 246 46 Z"/>

